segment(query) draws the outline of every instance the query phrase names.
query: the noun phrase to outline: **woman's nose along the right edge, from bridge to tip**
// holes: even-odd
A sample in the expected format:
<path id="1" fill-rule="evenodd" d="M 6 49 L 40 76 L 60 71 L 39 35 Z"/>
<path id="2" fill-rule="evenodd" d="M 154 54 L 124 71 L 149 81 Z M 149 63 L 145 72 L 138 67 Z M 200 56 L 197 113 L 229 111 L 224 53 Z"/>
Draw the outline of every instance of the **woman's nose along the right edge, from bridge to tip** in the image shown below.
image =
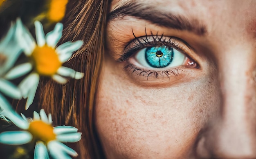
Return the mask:
<path id="1" fill-rule="evenodd" d="M 239 49 L 240 50 L 240 49 Z M 222 105 L 215 123 L 213 156 L 256 157 L 256 94 L 251 52 L 230 50 L 219 61 Z"/>

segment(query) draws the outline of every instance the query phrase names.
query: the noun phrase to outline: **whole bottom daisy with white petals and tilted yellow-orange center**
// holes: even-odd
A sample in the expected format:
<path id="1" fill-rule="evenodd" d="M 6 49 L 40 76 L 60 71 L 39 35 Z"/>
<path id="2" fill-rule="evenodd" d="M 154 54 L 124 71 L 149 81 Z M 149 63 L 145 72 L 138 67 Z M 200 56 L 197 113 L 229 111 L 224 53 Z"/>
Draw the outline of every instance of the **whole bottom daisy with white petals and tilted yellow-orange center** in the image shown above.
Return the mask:
<path id="1" fill-rule="evenodd" d="M 81 133 L 72 126 L 52 127 L 51 114 L 46 115 L 43 109 L 40 113 L 34 111 L 34 118 L 27 119 L 15 111 L 3 111 L 3 115 L 18 126 L 21 131 L 5 131 L 0 133 L 0 143 L 10 145 L 21 145 L 36 140 L 34 159 L 67 159 L 78 154 L 61 142 L 78 142 Z"/>

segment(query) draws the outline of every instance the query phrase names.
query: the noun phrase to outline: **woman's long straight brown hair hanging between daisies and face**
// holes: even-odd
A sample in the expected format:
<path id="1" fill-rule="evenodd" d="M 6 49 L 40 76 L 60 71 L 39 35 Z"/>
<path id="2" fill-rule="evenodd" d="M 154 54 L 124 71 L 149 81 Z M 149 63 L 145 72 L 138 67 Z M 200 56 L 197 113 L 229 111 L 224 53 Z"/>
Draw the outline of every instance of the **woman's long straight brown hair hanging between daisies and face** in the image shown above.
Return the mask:
<path id="1" fill-rule="evenodd" d="M 110 0 L 76 0 L 67 4 L 60 41 L 83 40 L 84 44 L 65 66 L 84 72 L 81 80 L 65 85 L 43 78 L 37 90 L 38 105 L 52 113 L 55 125 L 75 126 L 82 132 L 75 145 L 79 158 L 105 158 L 94 126 L 94 101 L 104 53 L 104 32 Z M 35 100 L 36 101 L 36 100 Z"/>

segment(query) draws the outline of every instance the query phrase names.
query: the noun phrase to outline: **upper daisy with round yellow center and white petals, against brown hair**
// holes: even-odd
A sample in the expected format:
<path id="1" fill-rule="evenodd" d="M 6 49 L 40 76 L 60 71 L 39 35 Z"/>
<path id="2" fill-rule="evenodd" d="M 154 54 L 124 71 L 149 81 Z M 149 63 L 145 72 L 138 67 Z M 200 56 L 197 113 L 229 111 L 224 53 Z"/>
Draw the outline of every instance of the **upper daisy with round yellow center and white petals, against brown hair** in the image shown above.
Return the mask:
<path id="1" fill-rule="evenodd" d="M 20 19 L 17 19 L 18 42 L 25 55 L 30 59 L 27 66 L 34 67 L 34 70 L 19 84 L 23 98 L 27 98 L 26 109 L 34 100 L 36 89 L 39 83 L 39 76 L 52 77 L 56 82 L 64 84 L 67 78 L 81 79 L 83 73 L 76 72 L 71 68 L 63 67 L 62 64 L 72 56 L 72 53 L 78 50 L 83 41 L 65 42 L 56 47 L 61 39 L 63 24 L 57 23 L 54 30 L 45 35 L 43 26 L 39 21 L 35 23 L 36 41 L 25 28 Z M 11 70 L 13 74 L 19 72 L 19 69 Z"/>

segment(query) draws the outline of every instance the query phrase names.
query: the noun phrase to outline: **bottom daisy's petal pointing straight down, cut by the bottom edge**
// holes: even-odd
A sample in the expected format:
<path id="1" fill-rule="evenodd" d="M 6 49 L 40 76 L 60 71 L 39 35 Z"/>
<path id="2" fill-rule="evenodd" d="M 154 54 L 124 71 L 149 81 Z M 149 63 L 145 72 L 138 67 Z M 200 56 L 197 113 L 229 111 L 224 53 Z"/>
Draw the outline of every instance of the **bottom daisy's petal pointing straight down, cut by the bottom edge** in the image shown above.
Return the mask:
<path id="1" fill-rule="evenodd" d="M 49 159 L 47 148 L 43 142 L 36 142 L 34 159 Z"/>

